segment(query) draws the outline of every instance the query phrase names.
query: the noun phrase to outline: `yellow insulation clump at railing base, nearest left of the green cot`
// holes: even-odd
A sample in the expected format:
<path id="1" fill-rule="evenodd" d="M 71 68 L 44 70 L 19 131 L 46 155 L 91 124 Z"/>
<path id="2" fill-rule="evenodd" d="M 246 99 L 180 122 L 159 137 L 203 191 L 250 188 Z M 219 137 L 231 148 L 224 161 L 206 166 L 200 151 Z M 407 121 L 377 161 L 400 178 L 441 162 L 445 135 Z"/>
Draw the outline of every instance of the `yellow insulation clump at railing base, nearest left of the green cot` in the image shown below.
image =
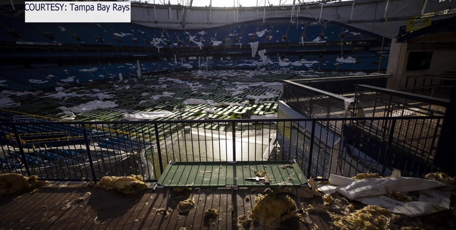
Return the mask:
<path id="1" fill-rule="evenodd" d="M 138 191 L 147 189 L 144 178 L 138 175 L 128 177 L 103 177 L 95 186 L 106 190 L 115 189 L 124 194 L 134 194 Z"/>

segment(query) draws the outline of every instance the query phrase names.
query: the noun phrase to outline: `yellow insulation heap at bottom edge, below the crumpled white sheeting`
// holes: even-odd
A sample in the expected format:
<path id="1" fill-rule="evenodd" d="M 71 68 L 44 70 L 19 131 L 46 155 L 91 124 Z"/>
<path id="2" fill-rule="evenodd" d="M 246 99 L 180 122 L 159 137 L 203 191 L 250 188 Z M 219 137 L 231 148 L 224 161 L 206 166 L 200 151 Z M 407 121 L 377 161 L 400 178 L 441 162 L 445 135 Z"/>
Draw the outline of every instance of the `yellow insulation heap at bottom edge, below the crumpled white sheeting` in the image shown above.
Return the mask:
<path id="1" fill-rule="evenodd" d="M 346 216 L 333 216 L 333 225 L 337 229 L 397 229 L 394 224 L 400 216 L 392 214 L 384 207 L 369 205 Z"/>

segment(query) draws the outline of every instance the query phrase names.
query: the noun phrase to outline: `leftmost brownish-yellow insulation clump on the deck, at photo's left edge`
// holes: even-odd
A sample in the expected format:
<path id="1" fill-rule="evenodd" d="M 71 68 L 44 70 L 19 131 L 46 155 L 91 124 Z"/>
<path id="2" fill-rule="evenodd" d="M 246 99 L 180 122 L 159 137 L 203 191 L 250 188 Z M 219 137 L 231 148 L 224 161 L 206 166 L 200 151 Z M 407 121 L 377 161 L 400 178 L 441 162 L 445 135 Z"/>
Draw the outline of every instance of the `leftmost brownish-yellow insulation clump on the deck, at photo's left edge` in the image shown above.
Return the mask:
<path id="1" fill-rule="evenodd" d="M 36 175 L 24 177 L 17 173 L 4 173 L 0 175 L 0 195 L 22 192 L 47 183 L 49 182 L 39 181 Z"/>

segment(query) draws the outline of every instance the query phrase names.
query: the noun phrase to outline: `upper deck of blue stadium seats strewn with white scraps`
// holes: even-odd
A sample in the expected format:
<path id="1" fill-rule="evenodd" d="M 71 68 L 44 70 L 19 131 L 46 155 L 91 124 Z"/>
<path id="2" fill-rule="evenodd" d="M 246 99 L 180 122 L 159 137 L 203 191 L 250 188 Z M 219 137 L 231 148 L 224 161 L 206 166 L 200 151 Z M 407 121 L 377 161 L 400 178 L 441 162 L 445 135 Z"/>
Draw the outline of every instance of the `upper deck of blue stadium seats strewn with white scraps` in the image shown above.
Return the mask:
<path id="1" fill-rule="evenodd" d="M 109 46 L 231 46 L 259 43 L 358 41 L 370 33 L 339 24 L 289 23 L 285 19 L 254 21 L 204 29 L 164 29 L 136 23 L 24 23 L 21 17 L 0 16 L 0 42 L 34 42 Z"/>

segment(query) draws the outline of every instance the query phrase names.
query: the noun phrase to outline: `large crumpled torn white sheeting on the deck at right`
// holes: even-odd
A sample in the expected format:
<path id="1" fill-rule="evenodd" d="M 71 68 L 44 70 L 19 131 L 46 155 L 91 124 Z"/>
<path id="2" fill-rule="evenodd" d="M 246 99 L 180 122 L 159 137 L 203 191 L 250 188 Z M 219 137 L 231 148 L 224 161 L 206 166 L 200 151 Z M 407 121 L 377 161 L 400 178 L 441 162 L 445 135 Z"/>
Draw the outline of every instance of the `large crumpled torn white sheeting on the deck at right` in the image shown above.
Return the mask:
<path id="1" fill-rule="evenodd" d="M 395 173 L 394 175 L 400 175 Z M 438 176 L 437 176 L 438 177 Z M 442 175 L 442 178 L 444 175 Z M 368 177 L 354 180 L 331 174 L 329 181 L 334 185 L 320 185 L 319 190 L 326 194 L 338 192 L 349 200 L 356 200 L 365 205 L 388 208 L 393 213 L 416 217 L 450 208 L 451 191 L 434 189 L 445 184 L 420 178 Z M 418 192 L 419 191 L 419 192 Z M 419 193 L 416 198 L 407 194 Z M 405 202 L 404 202 L 405 201 Z"/>

